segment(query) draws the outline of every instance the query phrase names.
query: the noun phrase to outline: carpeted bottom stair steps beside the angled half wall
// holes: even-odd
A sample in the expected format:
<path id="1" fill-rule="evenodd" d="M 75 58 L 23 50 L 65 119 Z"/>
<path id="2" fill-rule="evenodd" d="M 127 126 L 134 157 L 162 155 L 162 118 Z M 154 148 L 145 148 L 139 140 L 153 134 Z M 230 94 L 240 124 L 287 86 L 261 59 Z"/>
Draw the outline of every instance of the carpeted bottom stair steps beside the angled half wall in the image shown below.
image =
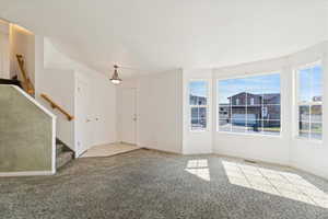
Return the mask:
<path id="1" fill-rule="evenodd" d="M 56 140 L 56 169 L 60 169 L 73 160 L 74 153 L 59 139 Z"/>

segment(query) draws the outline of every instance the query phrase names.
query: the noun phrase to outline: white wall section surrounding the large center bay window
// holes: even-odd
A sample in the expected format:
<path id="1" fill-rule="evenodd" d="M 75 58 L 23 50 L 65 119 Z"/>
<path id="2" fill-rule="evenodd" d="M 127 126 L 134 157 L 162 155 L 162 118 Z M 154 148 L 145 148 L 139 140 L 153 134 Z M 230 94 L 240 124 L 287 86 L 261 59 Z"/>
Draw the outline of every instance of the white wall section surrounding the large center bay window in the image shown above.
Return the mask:
<path id="1" fill-rule="evenodd" d="M 262 135 L 243 135 L 233 132 L 220 132 L 218 129 L 218 92 L 216 81 L 220 79 L 247 77 L 266 72 L 281 73 L 281 136 L 262 136 Z M 213 129 L 213 151 L 215 153 L 235 155 L 280 164 L 289 164 L 290 158 L 290 132 L 291 132 L 291 112 L 292 89 L 289 84 L 289 70 L 286 69 L 286 60 L 273 59 L 267 61 L 251 62 L 236 67 L 229 67 L 213 70 L 213 112 L 214 129 Z"/>

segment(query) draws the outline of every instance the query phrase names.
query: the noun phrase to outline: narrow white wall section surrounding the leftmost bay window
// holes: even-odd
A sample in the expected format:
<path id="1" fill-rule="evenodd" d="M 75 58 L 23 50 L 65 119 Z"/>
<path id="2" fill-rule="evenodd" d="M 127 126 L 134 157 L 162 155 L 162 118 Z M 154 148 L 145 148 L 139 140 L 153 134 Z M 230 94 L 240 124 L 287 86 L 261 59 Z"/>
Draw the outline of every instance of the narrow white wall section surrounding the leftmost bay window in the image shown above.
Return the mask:
<path id="1" fill-rule="evenodd" d="M 208 82 L 208 127 L 203 131 L 190 131 L 189 82 L 190 80 L 204 80 Z M 212 70 L 184 69 L 184 140 L 183 153 L 212 153 Z"/>

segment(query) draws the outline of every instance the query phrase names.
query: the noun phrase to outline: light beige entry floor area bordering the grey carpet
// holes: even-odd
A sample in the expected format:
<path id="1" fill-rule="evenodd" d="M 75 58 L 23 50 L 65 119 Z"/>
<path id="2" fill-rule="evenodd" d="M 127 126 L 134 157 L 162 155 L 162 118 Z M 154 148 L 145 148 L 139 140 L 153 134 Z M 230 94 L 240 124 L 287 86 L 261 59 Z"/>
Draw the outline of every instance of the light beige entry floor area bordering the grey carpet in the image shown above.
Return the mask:
<path id="1" fill-rule="evenodd" d="M 127 143 L 109 143 L 109 145 L 94 146 L 91 149 L 89 149 L 85 153 L 83 153 L 81 158 L 110 157 L 119 153 L 133 151 L 137 149 L 140 148 Z"/>

